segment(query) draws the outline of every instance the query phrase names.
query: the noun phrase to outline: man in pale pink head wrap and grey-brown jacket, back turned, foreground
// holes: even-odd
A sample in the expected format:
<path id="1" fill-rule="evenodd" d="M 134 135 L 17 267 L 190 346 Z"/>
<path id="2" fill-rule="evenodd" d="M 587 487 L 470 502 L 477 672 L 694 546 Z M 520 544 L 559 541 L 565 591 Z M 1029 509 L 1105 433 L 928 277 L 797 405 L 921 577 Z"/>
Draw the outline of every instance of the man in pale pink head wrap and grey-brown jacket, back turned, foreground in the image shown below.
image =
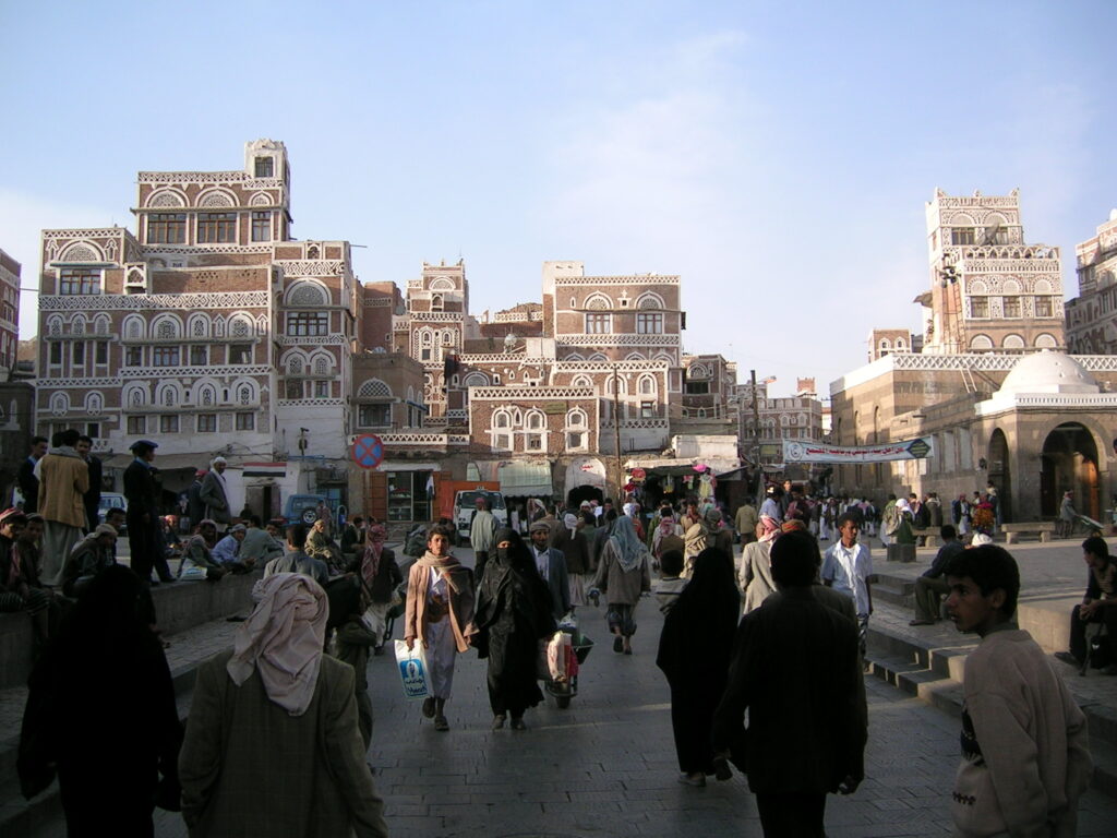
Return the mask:
<path id="1" fill-rule="evenodd" d="M 254 597 L 233 649 L 198 670 L 179 759 L 190 834 L 386 836 L 357 726 L 353 667 L 322 651 L 322 587 L 277 573 L 260 580 Z"/>

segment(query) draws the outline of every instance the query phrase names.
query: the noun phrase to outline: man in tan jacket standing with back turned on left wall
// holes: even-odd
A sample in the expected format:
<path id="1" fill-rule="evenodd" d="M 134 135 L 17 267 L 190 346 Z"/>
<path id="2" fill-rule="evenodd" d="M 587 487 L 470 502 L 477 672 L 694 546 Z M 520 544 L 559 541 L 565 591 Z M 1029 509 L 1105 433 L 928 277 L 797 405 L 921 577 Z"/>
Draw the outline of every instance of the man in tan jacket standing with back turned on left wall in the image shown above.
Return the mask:
<path id="1" fill-rule="evenodd" d="M 82 540 L 85 493 L 89 467 L 75 448 L 80 432 L 75 428 L 55 434 L 54 447 L 36 466 L 39 478 L 39 514 L 42 515 L 42 566 L 39 578 L 50 587 L 61 584 L 63 568 L 74 545 Z"/>

